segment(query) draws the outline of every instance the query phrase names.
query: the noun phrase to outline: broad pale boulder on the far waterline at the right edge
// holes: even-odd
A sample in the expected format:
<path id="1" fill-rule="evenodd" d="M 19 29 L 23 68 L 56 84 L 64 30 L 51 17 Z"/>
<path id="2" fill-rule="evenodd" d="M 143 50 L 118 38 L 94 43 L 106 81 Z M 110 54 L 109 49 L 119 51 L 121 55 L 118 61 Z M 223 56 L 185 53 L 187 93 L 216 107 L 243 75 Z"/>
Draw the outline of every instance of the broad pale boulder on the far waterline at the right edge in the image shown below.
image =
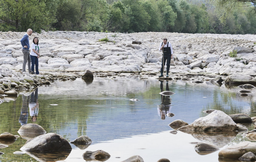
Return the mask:
<path id="1" fill-rule="evenodd" d="M 226 84 L 256 84 L 256 78 L 250 75 L 231 74 L 228 75 Z"/>

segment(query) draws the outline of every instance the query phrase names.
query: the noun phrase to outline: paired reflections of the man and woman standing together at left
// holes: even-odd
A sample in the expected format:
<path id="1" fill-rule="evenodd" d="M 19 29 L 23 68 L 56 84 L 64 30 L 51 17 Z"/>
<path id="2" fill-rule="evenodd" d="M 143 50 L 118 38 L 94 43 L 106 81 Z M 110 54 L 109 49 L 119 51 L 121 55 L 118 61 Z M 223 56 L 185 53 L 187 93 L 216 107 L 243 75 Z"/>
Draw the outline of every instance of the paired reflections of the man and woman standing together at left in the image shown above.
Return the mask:
<path id="1" fill-rule="evenodd" d="M 28 112 L 29 108 L 29 112 Z M 27 124 L 28 116 L 31 116 L 31 121 L 35 122 L 38 115 L 39 103 L 38 103 L 38 89 L 32 92 L 30 96 L 22 94 L 22 107 L 19 118 L 21 125 Z"/>

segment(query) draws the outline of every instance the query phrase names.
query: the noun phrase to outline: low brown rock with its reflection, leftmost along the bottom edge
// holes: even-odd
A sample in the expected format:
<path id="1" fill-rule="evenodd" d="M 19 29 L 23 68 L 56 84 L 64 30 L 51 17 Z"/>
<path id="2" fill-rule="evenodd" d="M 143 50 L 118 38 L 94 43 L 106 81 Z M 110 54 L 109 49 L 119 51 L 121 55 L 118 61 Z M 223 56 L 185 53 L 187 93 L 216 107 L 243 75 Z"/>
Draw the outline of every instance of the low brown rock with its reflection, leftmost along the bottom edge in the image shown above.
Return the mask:
<path id="1" fill-rule="evenodd" d="M 106 161 L 110 158 L 110 154 L 103 151 L 103 150 L 97 150 L 97 151 L 86 151 L 83 154 L 83 157 L 85 160 L 99 160 L 99 161 Z"/>

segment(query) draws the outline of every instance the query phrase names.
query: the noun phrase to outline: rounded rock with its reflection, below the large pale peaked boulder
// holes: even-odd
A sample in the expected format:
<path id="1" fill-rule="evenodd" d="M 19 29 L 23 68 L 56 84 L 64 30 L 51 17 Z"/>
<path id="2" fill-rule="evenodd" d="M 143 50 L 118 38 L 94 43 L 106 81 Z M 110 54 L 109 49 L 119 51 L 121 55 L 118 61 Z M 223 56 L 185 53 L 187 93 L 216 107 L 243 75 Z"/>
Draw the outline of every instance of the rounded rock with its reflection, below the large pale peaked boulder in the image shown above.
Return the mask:
<path id="1" fill-rule="evenodd" d="M 219 150 L 217 147 L 207 144 L 207 143 L 197 143 L 197 145 L 195 145 L 195 151 L 197 152 L 197 154 L 199 155 L 206 155 L 206 154 L 210 154 L 212 152 L 215 152 Z"/>

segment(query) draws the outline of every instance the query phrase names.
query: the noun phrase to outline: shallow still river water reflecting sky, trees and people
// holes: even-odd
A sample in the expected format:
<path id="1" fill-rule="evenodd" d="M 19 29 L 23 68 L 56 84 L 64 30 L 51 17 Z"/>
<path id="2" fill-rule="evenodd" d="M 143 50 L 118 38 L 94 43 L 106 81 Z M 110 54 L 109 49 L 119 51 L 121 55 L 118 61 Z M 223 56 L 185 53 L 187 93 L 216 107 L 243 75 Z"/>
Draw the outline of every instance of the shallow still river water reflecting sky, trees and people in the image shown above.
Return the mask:
<path id="1" fill-rule="evenodd" d="M 176 94 L 161 96 L 168 90 Z M 197 153 L 190 142 L 203 141 L 223 149 L 248 141 L 239 134 L 177 134 L 168 126 L 181 119 L 192 123 L 207 109 L 218 109 L 226 114 L 245 113 L 256 116 L 256 95 L 248 93 L 239 96 L 238 87 L 219 86 L 208 82 L 166 81 L 156 79 L 141 80 L 130 78 L 94 78 L 85 82 L 78 78 L 74 81 L 57 81 L 47 87 L 20 93 L 17 98 L 1 97 L 0 133 L 17 131 L 26 123 L 41 125 L 47 133 L 57 133 L 69 142 L 81 135 L 87 135 L 93 143 L 80 150 L 71 144 L 73 150 L 63 158 L 43 159 L 42 155 L 13 154 L 27 141 L 18 138 L 9 147 L 0 149 L 0 161 L 85 161 L 82 154 L 86 151 L 104 150 L 111 157 L 107 161 L 123 161 L 130 156 L 140 155 L 145 162 L 161 158 L 171 161 L 222 161 L 218 152 L 206 155 Z M 131 101 L 136 98 L 139 101 Z M 57 104 L 57 105 L 52 105 Z M 167 113 L 175 116 L 168 117 Z M 253 125 L 247 124 L 248 129 Z M 1 141 L 0 141 L 1 143 Z M 68 156 L 67 158 L 65 156 Z M 38 158 L 39 157 L 39 158 Z"/>

